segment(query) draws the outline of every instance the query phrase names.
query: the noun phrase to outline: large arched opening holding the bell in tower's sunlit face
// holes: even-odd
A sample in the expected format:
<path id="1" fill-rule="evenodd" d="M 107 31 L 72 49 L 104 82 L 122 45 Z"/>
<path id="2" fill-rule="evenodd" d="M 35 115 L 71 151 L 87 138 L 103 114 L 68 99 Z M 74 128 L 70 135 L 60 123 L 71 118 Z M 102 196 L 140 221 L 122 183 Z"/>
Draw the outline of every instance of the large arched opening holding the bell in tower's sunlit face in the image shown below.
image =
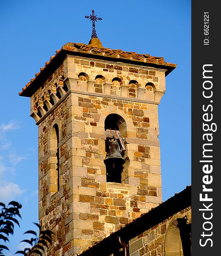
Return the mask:
<path id="1" fill-rule="evenodd" d="M 118 114 L 109 114 L 105 119 L 105 166 L 107 182 L 128 183 L 129 158 L 124 137 L 127 135 L 125 119 Z"/>

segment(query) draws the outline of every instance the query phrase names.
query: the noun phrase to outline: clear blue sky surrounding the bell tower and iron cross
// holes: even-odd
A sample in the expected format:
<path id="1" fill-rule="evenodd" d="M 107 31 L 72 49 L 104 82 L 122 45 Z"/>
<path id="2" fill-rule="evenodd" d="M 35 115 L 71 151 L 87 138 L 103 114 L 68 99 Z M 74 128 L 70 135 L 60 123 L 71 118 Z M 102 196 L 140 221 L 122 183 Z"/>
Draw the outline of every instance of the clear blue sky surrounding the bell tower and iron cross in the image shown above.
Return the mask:
<path id="1" fill-rule="evenodd" d="M 191 183 L 191 1 L 0 0 L 0 201 L 19 201 L 9 255 L 38 220 L 37 126 L 30 99 L 18 96 L 40 67 L 67 42 L 87 44 L 91 10 L 104 47 L 164 57 L 177 68 L 159 105 L 163 200 Z"/>

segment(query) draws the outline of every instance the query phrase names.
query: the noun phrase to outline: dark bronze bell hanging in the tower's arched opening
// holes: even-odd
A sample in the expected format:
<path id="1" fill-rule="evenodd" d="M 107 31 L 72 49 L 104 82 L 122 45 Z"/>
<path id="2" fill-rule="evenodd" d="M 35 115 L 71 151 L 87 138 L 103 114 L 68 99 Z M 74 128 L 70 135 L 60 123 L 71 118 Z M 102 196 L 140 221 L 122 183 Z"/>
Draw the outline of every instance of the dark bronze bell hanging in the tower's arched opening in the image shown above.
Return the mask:
<path id="1" fill-rule="evenodd" d="M 104 163 L 106 166 L 113 166 L 113 168 L 115 165 L 122 166 L 125 163 L 125 160 L 119 151 L 119 145 L 116 140 L 108 141 L 108 149 Z"/>

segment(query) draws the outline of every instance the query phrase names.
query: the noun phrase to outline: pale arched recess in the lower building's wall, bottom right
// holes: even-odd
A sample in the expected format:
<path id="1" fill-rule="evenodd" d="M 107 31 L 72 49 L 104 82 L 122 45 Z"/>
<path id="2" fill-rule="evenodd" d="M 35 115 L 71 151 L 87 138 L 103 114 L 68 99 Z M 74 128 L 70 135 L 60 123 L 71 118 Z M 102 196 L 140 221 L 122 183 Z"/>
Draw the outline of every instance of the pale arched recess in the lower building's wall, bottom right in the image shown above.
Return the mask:
<path id="1" fill-rule="evenodd" d="M 164 239 L 164 256 L 184 256 L 178 219 L 182 215 L 174 216 L 167 227 Z"/>

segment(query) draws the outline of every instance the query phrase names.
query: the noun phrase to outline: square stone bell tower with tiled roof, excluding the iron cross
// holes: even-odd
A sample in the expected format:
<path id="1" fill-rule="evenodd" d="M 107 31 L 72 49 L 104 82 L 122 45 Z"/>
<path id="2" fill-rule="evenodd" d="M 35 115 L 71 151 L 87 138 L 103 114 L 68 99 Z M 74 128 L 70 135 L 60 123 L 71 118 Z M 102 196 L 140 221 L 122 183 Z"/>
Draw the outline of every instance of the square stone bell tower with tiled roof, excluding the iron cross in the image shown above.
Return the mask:
<path id="1" fill-rule="evenodd" d="M 38 125 L 47 255 L 77 255 L 161 203 L 158 105 L 175 67 L 92 38 L 65 44 L 19 93 Z"/>

